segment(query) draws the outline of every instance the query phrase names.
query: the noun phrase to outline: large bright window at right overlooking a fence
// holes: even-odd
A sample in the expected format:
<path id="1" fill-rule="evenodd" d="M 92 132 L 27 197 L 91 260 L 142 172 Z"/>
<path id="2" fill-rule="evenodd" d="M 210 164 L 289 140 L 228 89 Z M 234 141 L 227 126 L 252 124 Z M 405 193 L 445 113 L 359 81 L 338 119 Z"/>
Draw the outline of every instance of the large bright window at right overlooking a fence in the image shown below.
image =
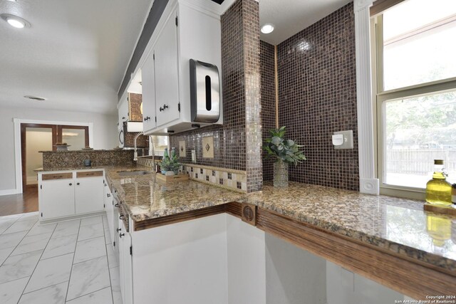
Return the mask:
<path id="1" fill-rule="evenodd" d="M 422 198 L 434 159 L 456 182 L 456 1 L 403 1 L 373 24 L 380 193 Z"/>

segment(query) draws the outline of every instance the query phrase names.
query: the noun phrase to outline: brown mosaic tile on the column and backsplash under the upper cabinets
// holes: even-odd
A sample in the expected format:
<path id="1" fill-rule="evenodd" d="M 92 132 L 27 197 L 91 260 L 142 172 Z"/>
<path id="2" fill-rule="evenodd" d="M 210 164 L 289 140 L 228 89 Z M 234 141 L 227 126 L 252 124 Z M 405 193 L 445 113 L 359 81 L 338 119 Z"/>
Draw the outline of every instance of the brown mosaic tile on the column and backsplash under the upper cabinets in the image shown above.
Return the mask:
<path id="1" fill-rule="evenodd" d="M 258 2 L 236 1 L 221 23 L 224 125 L 171 135 L 170 145 L 185 141 L 182 162 L 190 163 L 196 150 L 199 165 L 247 171 L 247 191 L 252 192 L 262 183 Z M 214 158 L 203 158 L 202 138 L 209 136 L 214 137 Z"/>

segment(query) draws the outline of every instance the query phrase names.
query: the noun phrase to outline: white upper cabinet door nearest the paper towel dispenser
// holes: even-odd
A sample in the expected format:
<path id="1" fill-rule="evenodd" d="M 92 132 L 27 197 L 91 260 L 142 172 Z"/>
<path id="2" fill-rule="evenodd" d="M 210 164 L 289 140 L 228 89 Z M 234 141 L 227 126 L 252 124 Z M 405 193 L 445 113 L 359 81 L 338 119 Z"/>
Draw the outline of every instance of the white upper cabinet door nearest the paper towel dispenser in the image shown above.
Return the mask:
<path id="1" fill-rule="evenodd" d="M 176 14 L 172 14 L 155 45 L 155 111 L 157 127 L 180 117 Z"/>

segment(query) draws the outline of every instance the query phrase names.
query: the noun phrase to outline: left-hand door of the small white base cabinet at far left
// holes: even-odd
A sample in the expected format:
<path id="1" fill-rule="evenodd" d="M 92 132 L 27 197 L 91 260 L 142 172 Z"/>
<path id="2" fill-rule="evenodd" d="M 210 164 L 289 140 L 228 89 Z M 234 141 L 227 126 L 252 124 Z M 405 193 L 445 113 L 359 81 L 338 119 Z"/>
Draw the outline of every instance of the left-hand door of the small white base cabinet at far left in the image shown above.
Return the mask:
<path id="1" fill-rule="evenodd" d="M 56 179 L 40 184 L 41 219 L 54 219 L 75 214 L 73 179 Z"/>

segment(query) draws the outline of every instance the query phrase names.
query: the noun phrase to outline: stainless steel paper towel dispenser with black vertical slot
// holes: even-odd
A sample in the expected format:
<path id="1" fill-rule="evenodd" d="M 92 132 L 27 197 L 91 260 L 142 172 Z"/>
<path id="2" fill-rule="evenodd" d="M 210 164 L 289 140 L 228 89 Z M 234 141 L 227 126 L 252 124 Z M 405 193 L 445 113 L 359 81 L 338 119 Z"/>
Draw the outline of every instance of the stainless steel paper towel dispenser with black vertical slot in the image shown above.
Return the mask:
<path id="1" fill-rule="evenodd" d="M 190 112 L 192 122 L 217 122 L 220 117 L 219 69 L 190 59 Z"/>

